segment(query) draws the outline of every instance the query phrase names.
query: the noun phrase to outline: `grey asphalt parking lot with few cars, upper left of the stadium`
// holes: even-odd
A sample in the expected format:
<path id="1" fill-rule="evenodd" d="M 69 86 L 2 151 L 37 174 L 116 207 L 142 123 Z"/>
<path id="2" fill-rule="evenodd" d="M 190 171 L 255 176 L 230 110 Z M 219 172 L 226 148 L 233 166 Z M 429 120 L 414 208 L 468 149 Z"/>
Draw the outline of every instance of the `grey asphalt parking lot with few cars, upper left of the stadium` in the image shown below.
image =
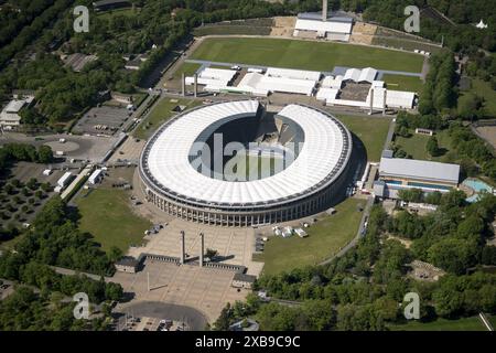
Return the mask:
<path id="1" fill-rule="evenodd" d="M 73 128 L 76 133 L 112 136 L 130 118 L 126 108 L 101 106 L 91 108 Z"/>

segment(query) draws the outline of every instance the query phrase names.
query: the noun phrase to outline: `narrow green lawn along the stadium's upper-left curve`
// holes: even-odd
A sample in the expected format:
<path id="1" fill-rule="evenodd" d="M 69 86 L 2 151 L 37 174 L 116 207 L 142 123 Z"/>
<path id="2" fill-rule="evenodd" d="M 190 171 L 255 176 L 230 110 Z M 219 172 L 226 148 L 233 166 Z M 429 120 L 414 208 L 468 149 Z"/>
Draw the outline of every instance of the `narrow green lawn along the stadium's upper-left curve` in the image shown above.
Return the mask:
<path id="1" fill-rule="evenodd" d="M 148 139 L 163 122 L 176 115 L 176 113 L 172 111 L 175 106 L 186 106 L 187 108 L 193 108 L 201 104 L 201 101 L 193 99 L 162 98 L 162 100 L 155 104 L 149 116 L 137 127 L 132 136 L 139 139 Z"/>

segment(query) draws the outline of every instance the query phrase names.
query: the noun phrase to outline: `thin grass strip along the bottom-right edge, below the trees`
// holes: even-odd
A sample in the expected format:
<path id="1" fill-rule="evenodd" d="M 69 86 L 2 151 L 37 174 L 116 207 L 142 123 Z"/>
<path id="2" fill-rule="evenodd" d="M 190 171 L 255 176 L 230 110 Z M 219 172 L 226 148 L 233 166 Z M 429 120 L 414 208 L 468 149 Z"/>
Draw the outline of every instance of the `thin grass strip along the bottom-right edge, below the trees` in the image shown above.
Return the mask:
<path id="1" fill-rule="evenodd" d="M 432 322 L 410 321 L 389 325 L 391 331 L 487 331 L 478 317 L 459 320 L 438 319 Z"/>

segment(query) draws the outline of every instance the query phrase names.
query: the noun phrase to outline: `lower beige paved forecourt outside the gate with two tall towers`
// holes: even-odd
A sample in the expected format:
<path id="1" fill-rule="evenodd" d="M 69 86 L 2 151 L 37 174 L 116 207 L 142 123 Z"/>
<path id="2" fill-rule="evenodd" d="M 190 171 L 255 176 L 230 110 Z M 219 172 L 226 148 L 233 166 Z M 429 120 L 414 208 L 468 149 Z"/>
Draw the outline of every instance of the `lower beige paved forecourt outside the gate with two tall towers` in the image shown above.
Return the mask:
<path id="1" fill-rule="evenodd" d="M 234 275 L 223 269 L 148 259 L 143 270 L 112 277 L 125 292 L 134 293 L 130 303 L 118 304 L 116 310 L 134 317 L 182 321 L 192 330 L 203 330 L 206 321 L 218 318 L 227 302 L 244 300 L 249 292 L 230 286 Z"/>

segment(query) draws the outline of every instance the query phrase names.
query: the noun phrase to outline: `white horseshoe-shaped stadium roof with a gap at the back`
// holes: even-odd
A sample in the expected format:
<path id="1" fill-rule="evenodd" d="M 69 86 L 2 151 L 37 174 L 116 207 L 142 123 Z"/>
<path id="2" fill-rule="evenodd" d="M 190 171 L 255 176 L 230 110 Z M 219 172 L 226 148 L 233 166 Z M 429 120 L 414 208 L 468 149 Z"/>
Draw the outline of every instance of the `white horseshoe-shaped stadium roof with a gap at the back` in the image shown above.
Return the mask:
<path id="1" fill-rule="evenodd" d="M 141 171 L 149 184 L 169 196 L 193 204 L 254 206 L 305 197 L 339 176 L 352 152 L 349 131 L 321 110 L 288 105 L 279 116 L 298 124 L 305 136 L 298 158 L 283 171 L 260 180 L 231 182 L 212 179 L 190 163 L 190 150 L 198 139 L 227 121 L 255 117 L 257 100 L 218 103 L 185 111 L 163 125 L 149 140 Z"/>

